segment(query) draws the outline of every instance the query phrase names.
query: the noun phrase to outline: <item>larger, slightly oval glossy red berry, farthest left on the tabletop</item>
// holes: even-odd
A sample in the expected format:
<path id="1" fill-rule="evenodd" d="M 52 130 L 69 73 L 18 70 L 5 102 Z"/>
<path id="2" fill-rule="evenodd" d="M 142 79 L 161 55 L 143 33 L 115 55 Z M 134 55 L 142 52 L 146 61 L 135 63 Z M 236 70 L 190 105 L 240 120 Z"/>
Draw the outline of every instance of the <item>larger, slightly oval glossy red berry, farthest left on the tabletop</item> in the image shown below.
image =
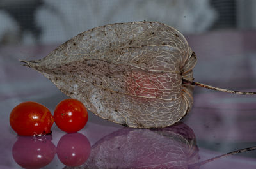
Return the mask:
<path id="1" fill-rule="evenodd" d="M 53 122 L 54 119 L 48 108 L 32 101 L 20 103 L 10 114 L 10 125 L 20 136 L 51 133 Z"/>

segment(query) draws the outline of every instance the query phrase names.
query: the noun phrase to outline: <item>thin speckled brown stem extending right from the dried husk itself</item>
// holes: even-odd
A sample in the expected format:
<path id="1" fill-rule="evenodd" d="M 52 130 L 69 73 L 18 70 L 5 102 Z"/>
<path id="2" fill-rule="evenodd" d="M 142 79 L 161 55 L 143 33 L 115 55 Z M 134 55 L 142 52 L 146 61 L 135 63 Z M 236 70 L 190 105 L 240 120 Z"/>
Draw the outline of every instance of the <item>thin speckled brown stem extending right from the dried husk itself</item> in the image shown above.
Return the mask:
<path id="1" fill-rule="evenodd" d="M 214 87 L 214 86 L 211 86 L 211 85 L 205 85 L 205 84 L 201 84 L 199 82 L 194 82 L 194 81 L 191 82 L 191 81 L 186 80 L 184 78 L 182 78 L 182 84 L 196 85 L 196 86 L 204 87 L 206 89 L 211 89 L 211 90 L 221 91 L 221 92 L 230 92 L 230 93 L 234 93 L 234 94 L 244 94 L 244 95 L 256 94 L 256 92 L 241 92 L 241 91 L 232 91 L 232 90 L 228 90 L 228 89 L 221 89 L 219 87 Z"/>

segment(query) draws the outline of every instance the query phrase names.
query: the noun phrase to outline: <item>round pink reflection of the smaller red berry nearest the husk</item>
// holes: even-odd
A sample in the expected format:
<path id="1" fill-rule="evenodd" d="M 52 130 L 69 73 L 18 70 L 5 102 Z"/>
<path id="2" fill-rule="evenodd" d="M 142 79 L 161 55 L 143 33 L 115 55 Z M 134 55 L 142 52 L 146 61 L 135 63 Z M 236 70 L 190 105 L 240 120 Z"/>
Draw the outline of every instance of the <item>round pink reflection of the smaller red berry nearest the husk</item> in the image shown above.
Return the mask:
<path id="1" fill-rule="evenodd" d="M 67 133 L 57 145 L 57 155 L 67 166 L 82 165 L 90 156 L 91 145 L 81 133 Z"/>

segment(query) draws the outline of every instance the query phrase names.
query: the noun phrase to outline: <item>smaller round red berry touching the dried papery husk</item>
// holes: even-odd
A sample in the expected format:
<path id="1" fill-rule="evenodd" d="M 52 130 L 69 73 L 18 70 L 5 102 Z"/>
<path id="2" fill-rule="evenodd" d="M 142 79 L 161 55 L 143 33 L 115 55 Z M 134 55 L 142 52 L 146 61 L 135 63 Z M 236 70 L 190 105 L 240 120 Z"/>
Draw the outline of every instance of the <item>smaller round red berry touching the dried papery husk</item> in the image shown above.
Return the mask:
<path id="1" fill-rule="evenodd" d="M 65 99 L 55 108 L 54 121 L 61 130 L 74 133 L 85 126 L 88 121 L 88 113 L 81 101 Z"/>

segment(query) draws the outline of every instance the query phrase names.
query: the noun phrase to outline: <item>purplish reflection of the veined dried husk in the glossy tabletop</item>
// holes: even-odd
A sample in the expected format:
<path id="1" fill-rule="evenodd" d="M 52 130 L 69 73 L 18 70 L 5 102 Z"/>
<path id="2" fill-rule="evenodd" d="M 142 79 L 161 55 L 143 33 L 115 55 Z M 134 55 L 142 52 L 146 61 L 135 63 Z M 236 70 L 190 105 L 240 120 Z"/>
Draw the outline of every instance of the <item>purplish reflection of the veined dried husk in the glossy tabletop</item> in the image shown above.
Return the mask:
<path id="1" fill-rule="evenodd" d="M 195 134 L 179 123 L 153 130 L 119 129 L 95 143 L 86 163 L 76 168 L 185 169 L 198 160 Z"/>

